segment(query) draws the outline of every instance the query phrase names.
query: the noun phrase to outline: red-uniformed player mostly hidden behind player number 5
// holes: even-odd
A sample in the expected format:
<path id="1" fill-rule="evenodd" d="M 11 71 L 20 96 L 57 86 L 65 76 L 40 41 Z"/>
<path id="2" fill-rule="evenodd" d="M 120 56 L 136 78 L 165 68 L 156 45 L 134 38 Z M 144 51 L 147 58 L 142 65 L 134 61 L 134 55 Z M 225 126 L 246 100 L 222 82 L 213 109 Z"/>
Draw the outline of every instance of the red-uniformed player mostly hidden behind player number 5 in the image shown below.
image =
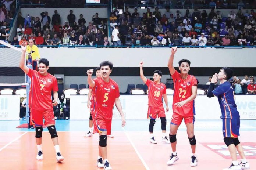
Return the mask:
<path id="1" fill-rule="evenodd" d="M 99 78 L 100 77 L 100 68 L 97 67 L 95 69 L 95 71 L 96 71 L 96 73 L 95 73 L 96 78 Z M 93 126 L 92 117 L 93 117 L 93 112 L 95 110 L 93 96 L 92 96 L 92 87 L 89 87 L 89 93 L 88 93 L 88 97 L 87 97 L 87 107 L 90 108 L 90 117 L 89 117 L 89 131 L 85 135 L 85 137 L 90 137 L 90 136 L 92 136 L 93 131 L 95 131 L 95 129 L 92 131 L 92 126 Z"/>

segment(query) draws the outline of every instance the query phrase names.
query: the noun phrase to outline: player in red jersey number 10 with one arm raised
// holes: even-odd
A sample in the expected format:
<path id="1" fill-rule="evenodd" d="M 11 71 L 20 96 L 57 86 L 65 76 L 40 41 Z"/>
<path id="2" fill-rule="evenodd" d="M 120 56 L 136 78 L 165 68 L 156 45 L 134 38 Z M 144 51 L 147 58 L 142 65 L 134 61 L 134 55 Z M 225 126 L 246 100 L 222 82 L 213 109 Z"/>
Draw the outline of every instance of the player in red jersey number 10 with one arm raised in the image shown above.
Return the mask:
<path id="1" fill-rule="evenodd" d="M 152 144 L 157 143 L 153 135 L 153 130 L 154 130 L 154 124 L 156 123 L 156 118 L 160 117 L 161 125 L 162 125 L 161 129 L 163 132 L 162 141 L 164 143 L 170 144 L 169 139 L 166 137 L 166 115 L 165 115 L 164 106 L 163 106 L 163 99 L 166 104 L 166 112 L 169 111 L 169 107 L 168 107 L 168 100 L 166 95 L 166 85 L 161 83 L 162 72 L 159 70 L 154 71 L 153 73 L 154 81 L 151 81 L 144 76 L 143 64 L 144 64 L 143 61 L 140 62 L 139 67 L 140 67 L 141 79 L 149 88 L 149 92 L 148 92 L 149 108 L 147 111 L 147 118 L 150 118 L 149 133 L 151 136 L 150 136 L 149 142 Z"/>

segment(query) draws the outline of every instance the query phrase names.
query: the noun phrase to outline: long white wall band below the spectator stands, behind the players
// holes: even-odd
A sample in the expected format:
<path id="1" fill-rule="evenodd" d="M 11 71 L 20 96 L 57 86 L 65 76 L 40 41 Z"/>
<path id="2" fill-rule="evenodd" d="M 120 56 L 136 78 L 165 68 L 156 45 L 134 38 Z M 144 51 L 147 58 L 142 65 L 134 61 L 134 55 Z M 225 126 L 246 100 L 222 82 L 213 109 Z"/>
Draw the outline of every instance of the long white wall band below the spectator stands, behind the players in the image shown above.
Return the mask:
<path id="1" fill-rule="evenodd" d="M 114 67 L 166 67 L 170 48 L 40 48 L 41 58 L 47 58 L 51 67 L 97 67 L 109 60 Z M 181 59 L 189 59 L 191 67 L 255 67 L 256 48 L 215 49 L 178 48 L 174 66 Z"/>

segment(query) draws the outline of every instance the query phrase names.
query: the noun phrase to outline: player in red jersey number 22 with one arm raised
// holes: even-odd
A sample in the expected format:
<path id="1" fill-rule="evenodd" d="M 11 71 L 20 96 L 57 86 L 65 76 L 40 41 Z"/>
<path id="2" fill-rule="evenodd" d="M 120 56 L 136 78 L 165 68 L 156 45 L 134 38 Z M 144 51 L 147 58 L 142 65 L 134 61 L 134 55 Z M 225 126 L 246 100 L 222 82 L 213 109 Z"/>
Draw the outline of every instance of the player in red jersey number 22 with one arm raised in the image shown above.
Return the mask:
<path id="1" fill-rule="evenodd" d="M 174 82 L 174 94 L 173 94 L 173 116 L 171 118 L 170 125 L 170 142 L 171 148 L 173 150 L 170 155 L 170 159 L 167 164 L 172 165 L 177 161 L 178 155 L 176 153 L 176 134 L 179 128 L 179 125 L 184 119 L 186 124 L 189 143 L 192 149 L 191 163 L 190 166 L 197 165 L 196 159 L 196 138 L 194 135 L 194 122 L 195 122 L 195 104 L 194 99 L 196 98 L 197 91 L 197 81 L 194 76 L 188 74 L 190 70 L 190 61 L 187 59 L 182 59 L 179 61 L 179 70 L 181 73 L 178 73 L 173 66 L 174 54 L 177 51 L 177 47 L 171 48 L 171 56 L 168 61 L 168 68 L 173 77 Z"/>

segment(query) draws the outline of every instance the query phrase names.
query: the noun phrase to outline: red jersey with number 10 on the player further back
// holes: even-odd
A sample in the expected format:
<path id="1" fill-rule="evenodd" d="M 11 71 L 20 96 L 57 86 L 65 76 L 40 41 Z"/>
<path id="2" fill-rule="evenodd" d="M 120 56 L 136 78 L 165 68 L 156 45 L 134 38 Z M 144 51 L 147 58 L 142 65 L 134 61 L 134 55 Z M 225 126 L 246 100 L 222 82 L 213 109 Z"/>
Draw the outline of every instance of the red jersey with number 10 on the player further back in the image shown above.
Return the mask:
<path id="1" fill-rule="evenodd" d="M 154 81 L 147 79 L 147 87 L 149 88 L 149 106 L 163 107 L 163 94 L 166 94 L 166 85 L 163 83 L 156 84 Z"/>

